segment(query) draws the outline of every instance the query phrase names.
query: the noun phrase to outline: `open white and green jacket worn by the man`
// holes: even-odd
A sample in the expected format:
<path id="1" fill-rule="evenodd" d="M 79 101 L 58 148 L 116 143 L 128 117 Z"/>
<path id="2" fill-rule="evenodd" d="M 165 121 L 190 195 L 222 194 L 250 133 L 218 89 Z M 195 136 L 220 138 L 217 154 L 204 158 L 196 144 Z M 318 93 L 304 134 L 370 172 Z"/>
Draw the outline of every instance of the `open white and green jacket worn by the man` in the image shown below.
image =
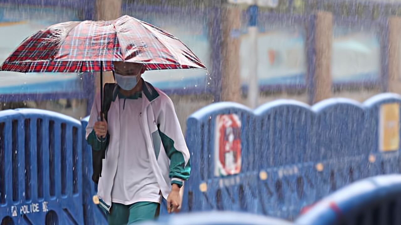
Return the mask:
<path id="1" fill-rule="evenodd" d="M 171 184 L 180 187 L 190 174 L 190 154 L 181 131 L 174 104 L 158 88 L 143 82 L 141 130 L 150 157 L 150 164 L 160 185 L 162 196 L 167 198 Z M 109 211 L 111 207 L 111 190 L 117 171 L 119 155 L 119 131 L 124 121 L 119 121 L 118 86 L 113 91 L 113 101 L 107 113 L 107 140 L 96 137 L 93 125 L 99 121 L 100 95 L 97 95 L 92 106 L 89 123 L 86 127 L 86 139 L 96 150 L 106 149 L 103 168 L 99 179 L 97 195 L 100 205 Z M 135 174 L 133 174 L 135 176 Z"/>

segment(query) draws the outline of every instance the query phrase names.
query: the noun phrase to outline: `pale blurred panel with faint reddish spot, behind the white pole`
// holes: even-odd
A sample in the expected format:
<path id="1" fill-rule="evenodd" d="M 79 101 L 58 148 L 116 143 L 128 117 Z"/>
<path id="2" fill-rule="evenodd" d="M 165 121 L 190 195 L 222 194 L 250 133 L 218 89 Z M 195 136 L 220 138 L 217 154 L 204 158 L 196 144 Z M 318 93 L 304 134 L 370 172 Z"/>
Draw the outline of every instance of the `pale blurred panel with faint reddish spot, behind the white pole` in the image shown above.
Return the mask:
<path id="1" fill-rule="evenodd" d="M 257 76 L 261 86 L 305 84 L 306 30 L 298 24 L 259 24 Z M 251 54 L 250 39 L 244 27 L 241 35 L 240 69 L 242 84 L 247 84 Z"/>

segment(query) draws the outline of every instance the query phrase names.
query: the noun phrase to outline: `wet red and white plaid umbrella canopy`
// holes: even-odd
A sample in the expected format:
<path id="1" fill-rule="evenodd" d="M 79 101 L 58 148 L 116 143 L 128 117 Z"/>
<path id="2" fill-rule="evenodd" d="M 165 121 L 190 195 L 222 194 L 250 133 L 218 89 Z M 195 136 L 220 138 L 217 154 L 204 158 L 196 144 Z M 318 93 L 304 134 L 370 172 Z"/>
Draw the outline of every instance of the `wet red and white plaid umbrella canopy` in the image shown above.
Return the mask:
<path id="1" fill-rule="evenodd" d="M 4 61 L 16 72 L 113 70 L 113 61 L 143 63 L 147 70 L 203 68 L 178 38 L 130 16 L 112 21 L 65 22 L 33 34 Z"/>

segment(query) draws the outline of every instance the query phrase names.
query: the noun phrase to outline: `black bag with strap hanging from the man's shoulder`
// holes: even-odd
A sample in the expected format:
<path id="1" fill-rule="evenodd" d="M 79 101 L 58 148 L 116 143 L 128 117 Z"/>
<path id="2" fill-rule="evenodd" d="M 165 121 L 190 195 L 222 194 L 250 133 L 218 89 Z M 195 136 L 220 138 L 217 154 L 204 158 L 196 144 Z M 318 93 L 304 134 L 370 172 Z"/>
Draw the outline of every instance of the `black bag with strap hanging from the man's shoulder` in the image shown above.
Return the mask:
<path id="1" fill-rule="evenodd" d="M 109 108 L 111 105 L 111 102 L 113 101 L 113 91 L 117 84 L 115 83 L 107 83 L 104 84 L 103 87 L 103 108 L 102 112 L 104 115 L 104 119 L 107 122 L 107 113 L 109 112 Z M 110 139 L 110 138 L 109 138 Z M 109 139 L 107 139 L 106 147 L 109 144 Z M 105 159 L 105 153 L 106 153 L 106 148 L 101 149 L 100 151 L 94 151 L 92 149 L 92 180 L 96 184 L 99 183 L 99 177 L 101 177 L 101 171 L 102 171 L 102 160 Z"/>

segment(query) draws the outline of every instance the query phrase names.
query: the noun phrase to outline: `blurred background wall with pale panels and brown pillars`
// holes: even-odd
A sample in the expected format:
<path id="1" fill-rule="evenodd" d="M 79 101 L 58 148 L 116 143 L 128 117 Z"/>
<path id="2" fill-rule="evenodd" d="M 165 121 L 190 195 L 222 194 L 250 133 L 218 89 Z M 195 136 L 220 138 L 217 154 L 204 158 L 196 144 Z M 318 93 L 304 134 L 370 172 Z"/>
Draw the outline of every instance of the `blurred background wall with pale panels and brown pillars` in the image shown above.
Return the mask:
<path id="1" fill-rule="evenodd" d="M 208 66 L 144 74 L 172 98 L 183 129 L 188 115 L 212 102 L 255 106 L 251 92 L 259 105 L 401 93 L 400 0 L 0 0 L 0 60 L 51 24 L 124 14 L 170 31 Z M 96 74 L 2 73 L 0 109 L 43 108 L 80 119 L 99 88 Z M 257 91 L 249 78 L 257 79 Z"/>

